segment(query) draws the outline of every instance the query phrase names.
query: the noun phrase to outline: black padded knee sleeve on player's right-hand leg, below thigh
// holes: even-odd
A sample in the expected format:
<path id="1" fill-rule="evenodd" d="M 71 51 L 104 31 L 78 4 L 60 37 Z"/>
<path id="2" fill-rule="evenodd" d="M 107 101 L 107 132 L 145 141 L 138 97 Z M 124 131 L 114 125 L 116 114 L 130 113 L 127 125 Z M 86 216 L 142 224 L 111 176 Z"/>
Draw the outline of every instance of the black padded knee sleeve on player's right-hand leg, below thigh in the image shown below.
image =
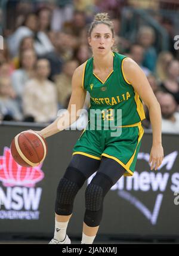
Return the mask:
<path id="1" fill-rule="evenodd" d="M 86 211 L 84 222 L 90 227 L 99 226 L 103 215 L 104 196 L 113 186 L 112 180 L 101 173 L 97 173 L 85 192 Z"/>

